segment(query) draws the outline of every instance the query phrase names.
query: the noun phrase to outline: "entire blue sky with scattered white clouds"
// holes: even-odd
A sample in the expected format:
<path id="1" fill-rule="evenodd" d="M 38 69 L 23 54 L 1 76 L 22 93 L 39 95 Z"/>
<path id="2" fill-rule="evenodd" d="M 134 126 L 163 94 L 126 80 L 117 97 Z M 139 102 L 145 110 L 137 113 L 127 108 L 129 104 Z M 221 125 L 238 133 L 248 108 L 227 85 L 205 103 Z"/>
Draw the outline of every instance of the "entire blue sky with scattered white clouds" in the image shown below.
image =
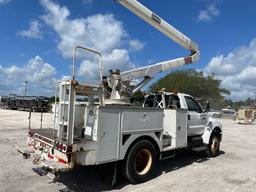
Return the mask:
<path id="1" fill-rule="evenodd" d="M 175 70 L 215 74 L 227 98 L 256 98 L 256 1 L 139 2 L 199 45 L 201 60 Z M 54 95 L 72 74 L 75 45 L 102 52 L 106 74 L 189 54 L 112 0 L 0 0 L 0 26 L 0 95 L 24 95 L 25 81 L 28 95 Z M 79 52 L 76 78 L 99 83 L 98 58 Z"/>

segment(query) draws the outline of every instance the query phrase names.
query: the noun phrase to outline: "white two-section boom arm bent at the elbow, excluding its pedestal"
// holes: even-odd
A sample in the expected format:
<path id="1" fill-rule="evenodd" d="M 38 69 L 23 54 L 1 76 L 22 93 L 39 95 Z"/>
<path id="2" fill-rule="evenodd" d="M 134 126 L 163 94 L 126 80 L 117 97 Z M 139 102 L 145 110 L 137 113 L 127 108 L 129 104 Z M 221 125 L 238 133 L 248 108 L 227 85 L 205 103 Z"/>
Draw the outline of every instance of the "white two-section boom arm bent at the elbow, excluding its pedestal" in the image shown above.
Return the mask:
<path id="1" fill-rule="evenodd" d="M 153 78 L 155 74 L 167 71 L 171 68 L 193 63 L 199 60 L 198 45 L 189 39 L 186 35 L 175 29 L 166 21 L 161 19 L 158 15 L 150 11 L 148 8 L 140 4 L 136 0 L 116 0 L 118 3 L 132 11 L 134 14 L 142 18 L 144 21 L 161 31 L 167 37 L 173 39 L 175 42 L 191 51 L 191 55 L 185 58 L 178 58 L 174 60 L 164 61 L 154 65 L 133 69 L 121 73 L 122 79 L 132 80 L 140 77 Z"/>

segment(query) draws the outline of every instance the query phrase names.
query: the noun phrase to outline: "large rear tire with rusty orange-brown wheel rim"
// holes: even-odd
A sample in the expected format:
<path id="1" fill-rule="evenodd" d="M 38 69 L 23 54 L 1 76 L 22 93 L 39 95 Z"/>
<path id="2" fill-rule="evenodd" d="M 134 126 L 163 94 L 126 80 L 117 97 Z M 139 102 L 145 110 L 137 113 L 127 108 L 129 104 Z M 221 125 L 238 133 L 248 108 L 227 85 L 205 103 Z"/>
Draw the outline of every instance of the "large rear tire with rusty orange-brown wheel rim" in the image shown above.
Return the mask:
<path id="1" fill-rule="evenodd" d="M 124 175 L 131 183 L 142 183 L 153 177 L 157 167 L 157 152 L 148 140 L 137 142 L 124 161 Z"/>

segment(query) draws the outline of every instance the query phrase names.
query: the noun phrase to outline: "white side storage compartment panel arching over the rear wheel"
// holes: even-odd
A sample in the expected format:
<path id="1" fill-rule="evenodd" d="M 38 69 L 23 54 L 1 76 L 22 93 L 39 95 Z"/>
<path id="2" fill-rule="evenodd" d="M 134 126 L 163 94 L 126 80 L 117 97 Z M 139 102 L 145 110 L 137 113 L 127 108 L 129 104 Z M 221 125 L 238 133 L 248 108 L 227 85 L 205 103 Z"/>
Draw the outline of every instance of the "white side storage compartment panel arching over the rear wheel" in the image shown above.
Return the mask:
<path id="1" fill-rule="evenodd" d="M 163 110 L 131 106 L 99 108 L 97 163 L 122 160 L 133 141 L 151 137 L 160 145 Z M 157 136 L 158 133 L 159 135 Z"/>

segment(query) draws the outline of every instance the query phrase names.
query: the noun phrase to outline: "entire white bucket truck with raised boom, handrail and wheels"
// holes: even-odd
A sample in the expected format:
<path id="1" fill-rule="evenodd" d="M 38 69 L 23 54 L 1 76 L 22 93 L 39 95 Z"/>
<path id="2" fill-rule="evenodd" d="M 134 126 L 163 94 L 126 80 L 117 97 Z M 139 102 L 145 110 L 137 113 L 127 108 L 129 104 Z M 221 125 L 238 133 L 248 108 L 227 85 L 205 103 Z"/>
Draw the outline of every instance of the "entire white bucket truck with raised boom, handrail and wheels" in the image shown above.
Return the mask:
<path id="1" fill-rule="evenodd" d="M 157 73 L 198 61 L 197 44 L 136 0 L 117 2 L 188 49 L 189 56 L 124 72 L 110 70 L 104 76 L 102 54 L 76 46 L 72 80 L 60 81 L 56 89 L 59 102 L 55 104 L 54 128 L 30 129 L 27 144 L 18 151 L 53 172 L 120 161 L 133 183 L 151 178 L 157 161 L 175 156 L 177 149 L 207 149 L 216 156 L 222 127 L 208 118 L 193 97 L 157 92 L 146 96 L 143 106 L 129 102 Z M 98 85 L 75 80 L 77 49 L 100 58 Z M 132 85 L 135 79 L 142 81 Z M 78 97 L 89 98 L 86 106 L 78 105 Z"/>

